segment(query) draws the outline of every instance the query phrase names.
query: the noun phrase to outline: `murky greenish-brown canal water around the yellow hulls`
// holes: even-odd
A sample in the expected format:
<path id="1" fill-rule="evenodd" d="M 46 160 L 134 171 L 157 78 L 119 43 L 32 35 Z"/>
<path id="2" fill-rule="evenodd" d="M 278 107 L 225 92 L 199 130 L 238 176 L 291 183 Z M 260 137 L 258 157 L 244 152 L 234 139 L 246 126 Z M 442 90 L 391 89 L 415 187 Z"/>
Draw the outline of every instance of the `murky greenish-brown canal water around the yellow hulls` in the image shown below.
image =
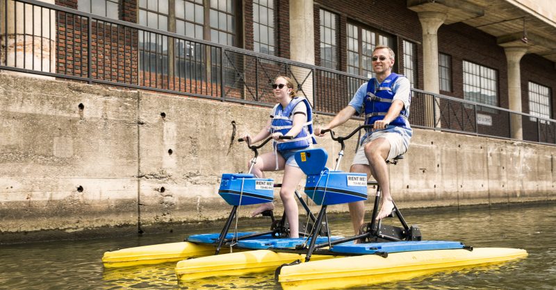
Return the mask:
<path id="1" fill-rule="evenodd" d="M 502 266 L 436 273 L 375 289 L 556 289 L 556 203 L 403 211 L 425 239 L 478 247 L 525 248 L 529 256 Z M 350 235 L 346 216 L 329 216 L 333 234 Z M 264 230 L 262 226 L 249 230 Z M 336 228 L 338 231 L 334 231 Z M 0 289 L 280 289 L 274 273 L 177 284 L 175 263 L 104 270 L 105 250 L 180 241 L 193 233 L 52 241 L 0 246 Z M 211 230 L 214 232 L 214 230 Z M 357 289 L 368 289 L 359 287 Z"/>

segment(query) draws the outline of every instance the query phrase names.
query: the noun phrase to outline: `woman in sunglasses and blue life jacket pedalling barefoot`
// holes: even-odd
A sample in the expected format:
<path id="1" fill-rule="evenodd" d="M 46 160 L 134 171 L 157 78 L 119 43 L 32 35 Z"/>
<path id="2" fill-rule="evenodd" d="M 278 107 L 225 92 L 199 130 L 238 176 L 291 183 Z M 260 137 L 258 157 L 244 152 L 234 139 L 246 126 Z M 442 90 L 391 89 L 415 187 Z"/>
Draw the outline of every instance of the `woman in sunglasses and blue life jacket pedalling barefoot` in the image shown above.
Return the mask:
<path id="1" fill-rule="evenodd" d="M 286 76 L 277 76 L 272 85 L 272 92 L 278 101 L 272 109 L 267 126 L 254 137 L 245 135 L 248 142 L 256 143 L 268 136 L 274 139 L 274 152 L 263 153 L 256 159 L 252 173 L 257 178 L 265 178 L 264 171 L 284 170 L 280 198 L 284 203 L 284 212 L 290 225 L 290 237 L 299 237 L 299 216 L 295 189 L 304 176 L 295 162 L 296 151 L 309 148 L 316 143 L 313 137 L 313 118 L 309 101 L 296 97 L 293 82 Z M 279 139 L 280 136 L 292 136 L 293 139 Z M 256 216 L 265 210 L 274 210 L 274 204 L 264 203 L 252 214 Z"/>

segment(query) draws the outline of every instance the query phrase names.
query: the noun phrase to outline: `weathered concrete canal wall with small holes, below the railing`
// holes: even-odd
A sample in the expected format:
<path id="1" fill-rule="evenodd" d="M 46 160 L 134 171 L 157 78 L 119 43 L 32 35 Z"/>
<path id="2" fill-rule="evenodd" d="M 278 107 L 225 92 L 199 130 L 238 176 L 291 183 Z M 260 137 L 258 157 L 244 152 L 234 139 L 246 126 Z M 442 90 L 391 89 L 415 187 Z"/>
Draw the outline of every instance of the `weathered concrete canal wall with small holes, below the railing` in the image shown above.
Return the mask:
<path id="1" fill-rule="evenodd" d="M 0 74 L 0 243 L 222 219 L 220 175 L 246 171 L 252 157 L 234 139 L 258 132 L 269 111 Z M 339 145 L 318 141 L 333 168 Z M 347 142 L 341 169 L 354 146 Z M 554 155 L 554 146 L 416 129 L 390 168 L 392 192 L 400 208 L 554 200 Z"/>

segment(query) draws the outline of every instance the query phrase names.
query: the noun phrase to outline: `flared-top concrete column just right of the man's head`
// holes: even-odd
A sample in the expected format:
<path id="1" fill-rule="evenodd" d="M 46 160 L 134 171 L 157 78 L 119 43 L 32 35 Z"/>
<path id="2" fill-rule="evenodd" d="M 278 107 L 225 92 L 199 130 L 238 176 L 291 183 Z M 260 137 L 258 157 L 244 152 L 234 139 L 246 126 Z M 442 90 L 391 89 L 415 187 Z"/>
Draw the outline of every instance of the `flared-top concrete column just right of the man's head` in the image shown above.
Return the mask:
<path id="1" fill-rule="evenodd" d="M 423 83 L 425 85 L 423 89 L 426 92 L 438 94 L 439 44 L 437 31 L 448 15 L 443 12 L 425 11 L 418 12 L 418 16 L 423 28 Z M 436 123 L 436 126 L 440 126 L 440 108 L 438 105 L 434 105 L 433 98 L 428 98 L 425 103 L 426 125 L 432 127 Z"/>

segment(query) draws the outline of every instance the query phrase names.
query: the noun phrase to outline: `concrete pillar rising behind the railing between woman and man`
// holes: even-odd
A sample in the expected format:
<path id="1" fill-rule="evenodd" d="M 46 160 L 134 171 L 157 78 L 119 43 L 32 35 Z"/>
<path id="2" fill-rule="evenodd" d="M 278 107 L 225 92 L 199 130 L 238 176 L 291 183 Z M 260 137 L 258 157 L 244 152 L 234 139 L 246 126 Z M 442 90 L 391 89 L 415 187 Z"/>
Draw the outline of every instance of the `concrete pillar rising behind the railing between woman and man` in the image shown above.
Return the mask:
<path id="1" fill-rule="evenodd" d="M 290 56 L 291 60 L 297 62 L 315 64 L 313 0 L 290 1 Z M 302 85 L 304 96 L 314 104 L 311 70 L 293 66 L 292 73 L 299 83 L 304 81 Z"/>

